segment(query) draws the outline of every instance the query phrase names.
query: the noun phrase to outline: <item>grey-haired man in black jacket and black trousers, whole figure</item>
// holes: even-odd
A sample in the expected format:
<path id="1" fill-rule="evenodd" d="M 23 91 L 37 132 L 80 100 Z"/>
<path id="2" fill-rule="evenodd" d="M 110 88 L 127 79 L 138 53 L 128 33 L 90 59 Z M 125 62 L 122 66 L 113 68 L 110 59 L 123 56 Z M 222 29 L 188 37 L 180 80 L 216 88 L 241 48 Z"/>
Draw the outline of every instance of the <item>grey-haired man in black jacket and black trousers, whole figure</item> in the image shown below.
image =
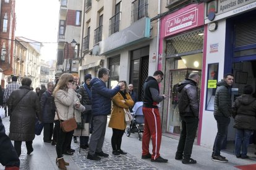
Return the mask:
<path id="1" fill-rule="evenodd" d="M 184 164 L 197 163 L 190 156 L 198 126 L 199 100 L 197 84 L 199 79 L 200 77 L 197 73 L 190 73 L 189 78 L 182 81 L 177 89 L 179 92 L 178 108 L 182 130 L 175 159 L 182 160 Z"/>

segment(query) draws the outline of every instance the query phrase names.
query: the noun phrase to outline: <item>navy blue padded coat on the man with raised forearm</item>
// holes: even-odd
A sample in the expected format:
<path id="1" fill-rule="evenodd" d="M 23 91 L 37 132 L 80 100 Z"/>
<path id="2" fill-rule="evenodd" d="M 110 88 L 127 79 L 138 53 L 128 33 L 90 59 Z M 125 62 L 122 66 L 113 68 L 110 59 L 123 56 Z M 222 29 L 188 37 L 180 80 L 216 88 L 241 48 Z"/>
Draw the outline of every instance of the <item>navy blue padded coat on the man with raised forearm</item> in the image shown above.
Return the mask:
<path id="1" fill-rule="evenodd" d="M 120 90 L 120 86 L 108 89 L 100 78 L 93 78 L 90 82 L 92 89 L 92 116 L 109 115 L 111 112 L 111 98 Z"/>

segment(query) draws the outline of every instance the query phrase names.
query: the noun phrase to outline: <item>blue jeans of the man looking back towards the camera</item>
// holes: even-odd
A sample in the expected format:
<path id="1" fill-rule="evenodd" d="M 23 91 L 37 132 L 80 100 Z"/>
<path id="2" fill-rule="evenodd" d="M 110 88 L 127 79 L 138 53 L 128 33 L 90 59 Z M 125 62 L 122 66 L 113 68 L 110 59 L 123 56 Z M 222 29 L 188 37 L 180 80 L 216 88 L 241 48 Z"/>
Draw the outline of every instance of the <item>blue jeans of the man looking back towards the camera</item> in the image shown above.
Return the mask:
<path id="1" fill-rule="evenodd" d="M 230 123 L 230 118 L 216 115 L 214 115 L 214 118 L 217 121 L 218 132 L 216 134 L 215 142 L 213 145 L 213 155 L 220 156 L 221 147 L 228 134 L 228 125 Z"/>

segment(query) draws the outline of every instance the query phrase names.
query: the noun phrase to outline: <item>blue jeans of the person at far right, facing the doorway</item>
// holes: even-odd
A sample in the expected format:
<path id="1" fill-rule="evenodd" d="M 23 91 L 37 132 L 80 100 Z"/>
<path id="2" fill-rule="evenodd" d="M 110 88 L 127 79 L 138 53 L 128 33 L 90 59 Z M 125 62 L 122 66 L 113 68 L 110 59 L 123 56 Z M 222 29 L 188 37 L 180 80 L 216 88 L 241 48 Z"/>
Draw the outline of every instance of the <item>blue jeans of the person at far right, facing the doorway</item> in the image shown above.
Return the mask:
<path id="1" fill-rule="evenodd" d="M 235 154 L 236 156 L 242 155 L 242 157 L 247 155 L 247 147 L 250 142 L 251 130 L 247 129 L 236 129 L 236 142 L 235 142 Z M 241 154 L 242 146 L 242 154 Z"/>

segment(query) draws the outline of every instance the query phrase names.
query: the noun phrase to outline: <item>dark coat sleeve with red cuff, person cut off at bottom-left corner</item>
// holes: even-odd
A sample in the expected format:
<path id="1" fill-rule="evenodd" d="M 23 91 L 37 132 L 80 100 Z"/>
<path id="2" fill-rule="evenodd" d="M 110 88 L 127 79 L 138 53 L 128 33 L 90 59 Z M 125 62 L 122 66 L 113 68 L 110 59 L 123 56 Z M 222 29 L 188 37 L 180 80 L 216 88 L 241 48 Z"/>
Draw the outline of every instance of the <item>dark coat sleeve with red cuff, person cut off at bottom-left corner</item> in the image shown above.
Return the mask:
<path id="1" fill-rule="evenodd" d="M 10 138 L 6 135 L 6 129 L 0 117 L 0 163 L 6 167 L 20 167 L 20 160 Z"/>

